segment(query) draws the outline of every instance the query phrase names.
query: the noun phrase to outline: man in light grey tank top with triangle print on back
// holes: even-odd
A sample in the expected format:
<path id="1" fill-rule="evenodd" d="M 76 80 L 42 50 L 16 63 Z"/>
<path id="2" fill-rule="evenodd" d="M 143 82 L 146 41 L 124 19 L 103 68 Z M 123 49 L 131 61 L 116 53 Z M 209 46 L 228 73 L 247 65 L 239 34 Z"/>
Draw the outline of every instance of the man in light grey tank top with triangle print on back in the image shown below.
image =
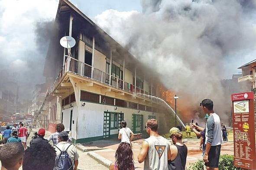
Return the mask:
<path id="1" fill-rule="evenodd" d="M 149 119 L 145 128 L 150 137 L 142 143 L 138 155 L 139 163 L 144 161 L 144 170 L 168 170 L 167 161 L 171 159 L 170 143 L 158 134 L 157 120 Z"/>

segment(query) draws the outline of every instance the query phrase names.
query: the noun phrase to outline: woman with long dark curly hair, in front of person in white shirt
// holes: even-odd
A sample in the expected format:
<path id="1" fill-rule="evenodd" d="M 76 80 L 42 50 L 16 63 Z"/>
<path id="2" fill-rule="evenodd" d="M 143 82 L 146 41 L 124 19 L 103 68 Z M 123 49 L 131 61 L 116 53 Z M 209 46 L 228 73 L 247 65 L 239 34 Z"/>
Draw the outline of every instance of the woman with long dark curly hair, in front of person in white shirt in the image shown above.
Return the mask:
<path id="1" fill-rule="evenodd" d="M 115 162 L 110 164 L 110 170 L 134 170 L 133 151 L 129 143 L 120 143 L 115 158 Z"/>

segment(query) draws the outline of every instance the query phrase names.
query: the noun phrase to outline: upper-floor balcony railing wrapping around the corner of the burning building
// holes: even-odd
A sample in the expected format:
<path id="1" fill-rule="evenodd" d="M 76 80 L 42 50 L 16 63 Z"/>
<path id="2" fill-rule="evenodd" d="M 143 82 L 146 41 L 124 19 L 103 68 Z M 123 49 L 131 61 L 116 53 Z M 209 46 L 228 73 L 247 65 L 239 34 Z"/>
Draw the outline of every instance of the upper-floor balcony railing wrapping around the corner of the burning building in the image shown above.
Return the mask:
<path id="1" fill-rule="evenodd" d="M 64 71 L 63 71 L 64 70 Z M 72 72 L 74 74 L 77 74 L 79 76 L 84 76 L 89 79 L 93 79 L 97 82 L 101 82 L 110 86 L 113 86 L 115 88 L 136 94 L 140 97 L 157 101 L 156 98 L 152 97 L 152 94 L 148 91 L 145 91 L 141 88 L 135 87 L 134 85 L 124 82 L 122 79 L 119 79 L 115 76 L 112 76 L 106 72 L 101 71 L 100 69 L 96 69 L 86 63 L 83 63 L 79 60 L 76 60 L 75 58 L 68 57 L 68 59 L 65 62 L 64 67 L 60 70 L 58 73 L 58 76 L 55 79 L 54 84 L 52 85 L 52 88 L 50 89 L 50 92 L 52 92 L 60 83 L 60 80 L 62 79 L 64 72 Z M 46 91 L 46 94 L 49 92 L 49 90 Z"/>

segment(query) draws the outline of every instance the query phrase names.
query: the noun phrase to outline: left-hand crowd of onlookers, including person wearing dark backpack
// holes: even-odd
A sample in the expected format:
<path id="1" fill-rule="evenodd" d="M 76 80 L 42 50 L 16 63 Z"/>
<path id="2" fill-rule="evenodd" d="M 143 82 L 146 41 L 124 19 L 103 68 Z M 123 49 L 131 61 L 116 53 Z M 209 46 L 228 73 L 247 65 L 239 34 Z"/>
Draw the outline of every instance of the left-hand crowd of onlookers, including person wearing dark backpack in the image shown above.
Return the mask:
<path id="1" fill-rule="evenodd" d="M 21 166 L 23 170 L 77 170 L 79 155 L 75 145 L 68 142 L 70 138 L 62 123 L 56 125 L 56 132 L 48 139 L 44 138 L 45 129 L 39 129 L 29 147 L 26 127 L 23 123 L 14 127 L 3 132 L 6 142 L 0 149 L 1 170 L 19 170 Z"/>

